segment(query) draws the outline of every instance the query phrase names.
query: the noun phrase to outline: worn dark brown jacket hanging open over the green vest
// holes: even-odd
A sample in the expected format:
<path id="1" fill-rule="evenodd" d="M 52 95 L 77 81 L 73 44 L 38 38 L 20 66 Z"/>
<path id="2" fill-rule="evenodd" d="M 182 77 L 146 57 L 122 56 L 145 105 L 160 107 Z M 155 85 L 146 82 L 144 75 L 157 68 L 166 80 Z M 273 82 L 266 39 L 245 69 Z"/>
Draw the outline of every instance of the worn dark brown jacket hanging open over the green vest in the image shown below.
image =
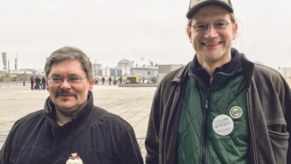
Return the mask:
<path id="1" fill-rule="evenodd" d="M 178 163 L 177 131 L 190 65 L 167 74 L 156 90 L 145 139 L 147 164 Z M 242 65 L 250 128 L 248 161 L 291 164 L 290 86 L 276 70 L 254 64 L 243 54 Z"/>

